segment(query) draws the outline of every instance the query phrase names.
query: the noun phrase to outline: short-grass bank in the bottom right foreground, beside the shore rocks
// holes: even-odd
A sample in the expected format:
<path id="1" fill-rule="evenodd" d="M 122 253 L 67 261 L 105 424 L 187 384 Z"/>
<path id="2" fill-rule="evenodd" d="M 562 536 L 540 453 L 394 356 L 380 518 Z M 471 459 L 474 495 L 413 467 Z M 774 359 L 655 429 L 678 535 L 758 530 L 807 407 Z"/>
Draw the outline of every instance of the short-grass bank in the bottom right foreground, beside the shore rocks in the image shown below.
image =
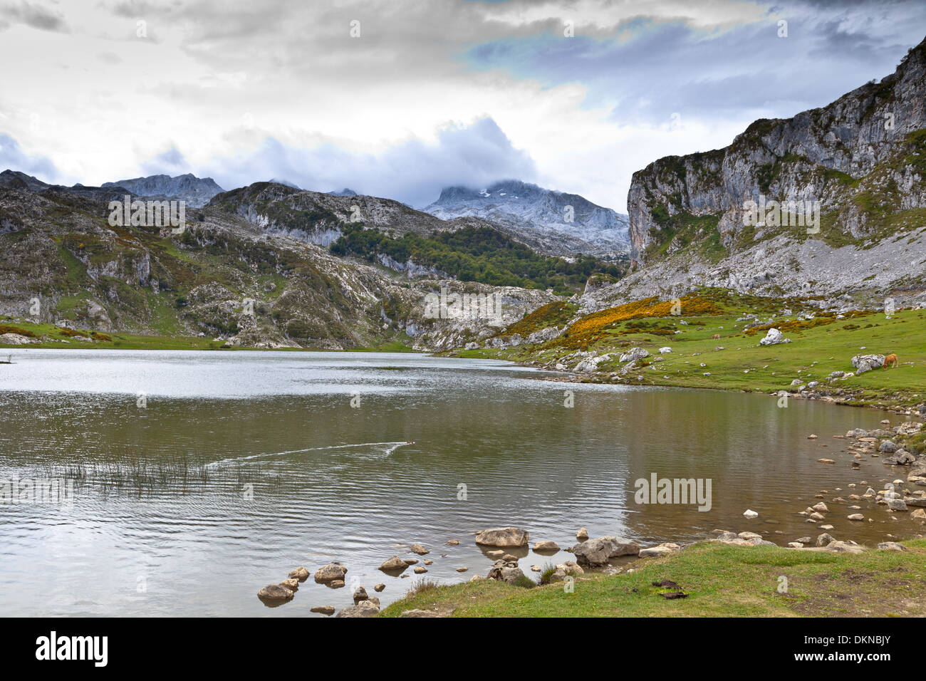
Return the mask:
<path id="1" fill-rule="evenodd" d="M 454 617 L 847 617 L 926 615 L 926 539 L 906 551 L 829 553 L 702 542 L 664 558 L 632 563 L 630 574 L 585 574 L 574 592 L 562 583 L 524 588 L 482 579 L 425 587 L 382 617 L 450 610 Z M 781 576 L 787 593 L 779 593 Z M 536 578 L 536 574 L 534 574 Z M 667 600 L 670 579 L 688 598 Z"/>

